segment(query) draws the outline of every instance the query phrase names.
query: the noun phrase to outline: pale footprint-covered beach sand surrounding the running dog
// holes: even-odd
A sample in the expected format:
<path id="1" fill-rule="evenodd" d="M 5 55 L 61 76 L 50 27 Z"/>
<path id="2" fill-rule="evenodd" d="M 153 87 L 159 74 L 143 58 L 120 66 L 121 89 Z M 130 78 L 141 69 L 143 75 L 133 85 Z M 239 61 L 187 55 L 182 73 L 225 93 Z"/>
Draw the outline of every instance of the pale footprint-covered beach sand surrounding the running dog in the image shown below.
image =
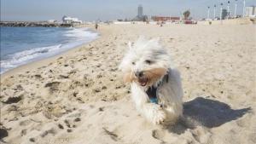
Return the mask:
<path id="1" fill-rule="evenodd" d="M 1 142 L 256 143 L 255 25 L 100 26 L 101 37 L 1 76 Z M 136 111 L 119 62 L 128 41 L 160 37 L 181 72 L 183 119 Z"/>

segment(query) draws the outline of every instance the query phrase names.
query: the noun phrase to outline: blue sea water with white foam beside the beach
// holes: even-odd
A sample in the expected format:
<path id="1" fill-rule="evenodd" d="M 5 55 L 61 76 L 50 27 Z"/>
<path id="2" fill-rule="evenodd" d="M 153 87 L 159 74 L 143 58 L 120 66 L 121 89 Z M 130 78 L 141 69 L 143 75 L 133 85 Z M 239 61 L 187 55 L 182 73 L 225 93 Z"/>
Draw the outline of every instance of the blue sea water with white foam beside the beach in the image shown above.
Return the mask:
<path id="1" fill-rule="evenodd" d="M 0 27 L 0 73 L 35 60 L 58 55 L 99 37 L 88 28 Z"/>

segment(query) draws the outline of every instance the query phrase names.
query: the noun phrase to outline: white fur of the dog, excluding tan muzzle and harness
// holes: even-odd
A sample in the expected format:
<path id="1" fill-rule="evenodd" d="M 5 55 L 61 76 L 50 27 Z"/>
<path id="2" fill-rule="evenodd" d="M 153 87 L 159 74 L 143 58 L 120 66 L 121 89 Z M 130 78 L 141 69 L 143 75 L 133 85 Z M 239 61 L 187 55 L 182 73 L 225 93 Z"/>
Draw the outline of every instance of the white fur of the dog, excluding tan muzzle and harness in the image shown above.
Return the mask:
<path id="1" fill-rule="evenodd" d="M 183 113 L 183 89 L 179 72 L 171 68 L 170 56 L 160 46 L 158 39 L 148 41 L 139 37 L 136 43 L 128 45 L 129 50 L 119 66 L 122 72 L 137 72 L 154 68 L 169 69 L 168 82 L 162 77 L 154 84 L 160 85 L 157 90 L 158 104 L 149 101 L 145 92 L 148 89 L 147 86 L 143 87 L 136 82 L 131 83 L 131 97 L 136 104 L 137 111 L 153 124 L 174 124 Z M 154 63 L 148 65 L 145 60 L 153 60 Z"/>

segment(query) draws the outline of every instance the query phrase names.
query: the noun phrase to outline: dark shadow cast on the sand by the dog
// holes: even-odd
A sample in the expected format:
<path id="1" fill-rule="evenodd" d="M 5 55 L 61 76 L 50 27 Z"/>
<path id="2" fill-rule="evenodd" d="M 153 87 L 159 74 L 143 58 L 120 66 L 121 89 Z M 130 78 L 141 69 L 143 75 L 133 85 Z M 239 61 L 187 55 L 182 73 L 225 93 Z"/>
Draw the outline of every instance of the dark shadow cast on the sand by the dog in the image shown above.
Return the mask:
<path id="1" fill-rule="evenodd" d="M 169 130 L 181 134 L 197 125 L 213 128 L 241 118 L 250 110 L 250 107 L 234 110 L 224 102 L 197 97 L 183 104 L 183 118 Z"/>

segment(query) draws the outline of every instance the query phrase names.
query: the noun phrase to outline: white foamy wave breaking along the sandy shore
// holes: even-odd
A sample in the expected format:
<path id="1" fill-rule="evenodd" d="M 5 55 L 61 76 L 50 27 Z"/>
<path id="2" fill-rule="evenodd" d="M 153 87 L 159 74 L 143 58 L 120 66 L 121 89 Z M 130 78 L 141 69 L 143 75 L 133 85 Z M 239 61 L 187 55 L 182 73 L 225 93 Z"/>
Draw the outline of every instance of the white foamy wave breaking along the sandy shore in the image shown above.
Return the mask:
<path id="1" fill-rule="evenodd" d="M 72 49 L 83 43 L 88 43 L 98 37 L 96 32 L 90 32 L 88 28 L 69 28 L 63 31 L 65 37 L 71 37 L 69 42 L 59 42 L 55 45 L 26 49 L 15 54 L 7 55 L 7 59 L 0 60 L 0 73 L 9 69 L 24 65 L 34 60 L 42 60 L 49 56 L 60 54 L 67 49 Z M 74 39 L 72 37 L 75 37 Z"/>

